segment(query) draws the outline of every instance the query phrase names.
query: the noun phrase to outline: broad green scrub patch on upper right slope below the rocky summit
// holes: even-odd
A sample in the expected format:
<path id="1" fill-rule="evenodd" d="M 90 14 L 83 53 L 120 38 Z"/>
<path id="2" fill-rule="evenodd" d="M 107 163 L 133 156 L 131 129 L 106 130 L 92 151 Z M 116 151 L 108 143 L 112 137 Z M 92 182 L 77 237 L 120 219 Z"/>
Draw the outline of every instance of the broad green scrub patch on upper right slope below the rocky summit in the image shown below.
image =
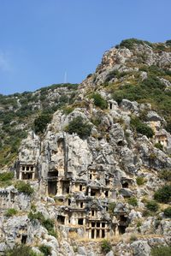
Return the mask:
<path id="1" fill-rule="evenodd" d="M 118 104 L 121 103 L 123 98 L 127 98 L 131 101 L 136 100 L 139 103 L 150 103 L 153 110 L 156 110 L 165 118 L 167 121 L 165 128 L 171 133 L 171 92 L 166 92 L 164 90 L 165 86 L 156 77 L 156 75 L 167 75 L 167 73 L 168 76 L 170 76 L 170 71 L 168 69 L 150 67 L 145 67 L 145 71 L 148 72 L 148 79 L 139 81 L 139 83 L 136 82 L 135 85 L 126 84 L 111 88 L 113 98 Z"/>

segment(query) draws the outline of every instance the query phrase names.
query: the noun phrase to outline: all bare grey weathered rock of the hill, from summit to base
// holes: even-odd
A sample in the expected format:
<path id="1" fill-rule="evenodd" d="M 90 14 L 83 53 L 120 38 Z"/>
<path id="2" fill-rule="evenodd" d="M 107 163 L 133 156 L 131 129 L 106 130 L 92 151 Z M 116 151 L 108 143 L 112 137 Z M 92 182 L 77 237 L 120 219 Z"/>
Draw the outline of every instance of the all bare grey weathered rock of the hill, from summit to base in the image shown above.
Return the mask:
<path id="1" fill-rule="evenodd" d="M 153 50 L 147 44 L 134 45 L 130 50 L 113 47 L 77 92 L 69 92 L 67 86 L 49 90 L 47 102 L 53 107 L 54 98 L 58 102 L 62 95 L 73 100 L 77 93 L 77 97 L 72 105 L 54 113 L 44 134 L 38 136 L 29 131 L 27 139 L 21 142 L 11 170 L 15 170 L 15 178 L 28 182 L 34 193 L 19 193 L 14 186 L 0 188 L 0 253 L 6 247 L 26 242 L 37 253 L 39 245 L 50 246 L 52 256 L 101 256 L 98 238 L 112 238 L 112 251 L 107 256 L 150 256 L 151 247 L 170 245 L 170 219 L 163 212 L 151 217 L 145 217 L 143 212 L 145 199 L 153 199 L 156 189 L 164 184 L 158 172 L 171 169 L 171 135 L 164 129 L 163 117 L 150 104 L 127 98 L 116 103 L 112 94 L 113 86 L 122 88 L 132 84 L 132 80 L 137 83 L 138 79 L 141 82 L 148 78 L 149 71 L 140 71 L 141 62 L 144 70 L 150 65 L 168 68 L 168 48 L 160 53 Z M 165 86 L 163 92 L 169 90 L 167 76 L 158 79 Z M 108 109 L 95 105 L 90 97 L 92 92 L 107 100 Z M 40 98 L 41 92 L 32 96 Z M 19 98 L 17 105 L 21 106 Z M 32 110 L 35 108 L 42 109 L 39 99 Z M 4 111 L 3 106 L 0 110 Z M 14 109 L 9 106 L 9 110 Z M 66 132 L 69 122 L 77 116 L 91 124 L 88 138 Z M 136 132 L 130 125 L 133 116 L 143 116 L 141 121 L 145 120 L 155 132 L 153 138 Z M 163 150 L 155 146 L 160 136 L 165 138 Z M 142 184 L 139 177 L 144 179 Z M 130 197 L 137 199 L 137 208 L 128 204 Z M 8 208 L 15 208 L 16 216 L 5 217 Z M 28 218 L 30 211 L 32 221 Z M 131 239 L 133 234 L 136 241 Z"/>

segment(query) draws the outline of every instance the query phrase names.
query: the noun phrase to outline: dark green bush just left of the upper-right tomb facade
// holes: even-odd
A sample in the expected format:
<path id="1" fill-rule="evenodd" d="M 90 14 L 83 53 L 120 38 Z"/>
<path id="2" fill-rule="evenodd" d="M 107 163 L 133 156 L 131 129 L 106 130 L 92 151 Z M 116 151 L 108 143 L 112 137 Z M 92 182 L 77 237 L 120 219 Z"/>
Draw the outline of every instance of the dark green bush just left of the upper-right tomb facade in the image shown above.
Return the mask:
<path id="1" fill-rule="evenodd" d="M 153 130 L 147 126 L 145 123 L 139 120 L 139 117 L 132 117 L 131 126 L 136 129 L 137 133 L 143 134 L 148 138 L 152 138 L 154 135 Z"/>

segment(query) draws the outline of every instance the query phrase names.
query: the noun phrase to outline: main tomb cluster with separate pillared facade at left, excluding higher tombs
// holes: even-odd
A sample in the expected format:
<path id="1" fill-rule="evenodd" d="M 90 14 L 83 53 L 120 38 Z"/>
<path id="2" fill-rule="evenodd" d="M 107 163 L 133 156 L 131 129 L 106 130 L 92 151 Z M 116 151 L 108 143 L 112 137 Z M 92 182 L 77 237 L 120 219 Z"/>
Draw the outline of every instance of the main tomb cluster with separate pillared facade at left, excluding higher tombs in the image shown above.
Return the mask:
<path id="1" fill-rule="evenodd" d="M 38 168 L 33 164 L 21 163 L 17 177 L 33 180 L 38 176 Z M 91 239 L 108 238 L 126 232 L 129 220 L 125 211 L 111 212 L 110 203 L 114 198 L 115 176 L 109 171 L 90 168 L 85 179 L 74 180 L 64 170 L 50 168 L 44 178 L 45 193 L 56 199 L 59 225 L 80 228 Z M 131 186 L 131 180 L 121 179 L 121 188 Z"/>

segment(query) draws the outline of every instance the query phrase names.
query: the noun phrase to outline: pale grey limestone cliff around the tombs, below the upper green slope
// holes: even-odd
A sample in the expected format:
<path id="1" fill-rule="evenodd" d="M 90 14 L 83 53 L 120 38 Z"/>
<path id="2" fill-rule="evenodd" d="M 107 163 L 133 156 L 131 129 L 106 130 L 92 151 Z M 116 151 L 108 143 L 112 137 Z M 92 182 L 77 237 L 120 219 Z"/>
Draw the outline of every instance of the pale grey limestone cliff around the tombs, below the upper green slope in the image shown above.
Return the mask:
<path id="1" fill-rule="evenodd" d="M 123 233 L 150 235 L 155 232 L 157 219 L 143 217 L 145 204 L 142 199 L 144 196 L 151 198 L 151 189 L 156 191 L 157 187 L 162 186 L 157 172 L 171 168 L 171 160 L 166 151 L 154 147 L 156 140 L 133 132 L 131 116 L 139 116 L 146 106 L 126 99 L 122 100 L 121 105 L 112 101 L 109 101 L 110 104 L 114 104 L 115 110 L 106 113 L 92 108 L 91 111 L 76 109 L 66 115 L 58 110 L 43 138 L 30 133 L 22 141 L 16 165 L 19 177 L 21 180 L 27 177 L 27 182 L 35 189 L 36 211 L 41 212 L 45 219 L 56 221 L 62 241 L 48 234 L 38 220 L 33 224 L 27 215 L 13 217 L 6 222 L 2 219 L 2 229 L 6 230 L 3 237 L 8 241 L 0 244 L 2 251 L 3 247 L 13 247 L 25 235 L 27 242 L 32 244 L 34 235 L 37 235 L 38 242 L 50 246 L 54 256 L 93 255 L 94 251 L 84 246 L 74 249 L 70 234 L 94 239 L 95 235 L 96 238 L 100 235 L 109 238 Z M 160 122 L 156 135 L 165 134 L 162 117 L 151 111 L 150 106 L 146 109 L 147 125 Z M 93 115 L 100 119 L 99 126 L 92 122 Z M 92 126 L 91 136 L 86 139 L 66 132 L 69 122 L 76 116 L 82 116 Z M 167 138 L 169 136 L 167 134 Z M 26 168 L 23 170 L 23 167 Z M 26 176 L 34 171 L 38 176 Z M 139 176 L 145 181 L 142 187 L 137 185 Z M 0 193 L 3 194 L 3 190 Z M 18 193 L 14 187 L 6 188 L 4 193 L 8 196 L 3 200 L 3 205 L 9 200 L 10 207 L 18 211 L 32 211 L 32 198 L 25 193 Z M 10 193 L 16 194 L 14 202 Z M 136 211 L 132 203 L 128 203 L 128 199 L 131 202 L 133 198 L 137 199 L 136 204 L 141 211 Z M 141 223 L 139 227 L 137 223 Z M 163 239 L 164 236 L 171 236 L 170 221 L 163 219 L 157 224 L 156 234 L 163 235 Z M 154 247 L 152 241 L 137 240 L 127 245 L 117 245 L 116 248 L 124 256 L 147 256 L 151 247 Z M 115 250 L 108 254 L 115 255 Z M 99 251 L 96 253 L 95 250 L 94 255 L 100 255 Z"/>

